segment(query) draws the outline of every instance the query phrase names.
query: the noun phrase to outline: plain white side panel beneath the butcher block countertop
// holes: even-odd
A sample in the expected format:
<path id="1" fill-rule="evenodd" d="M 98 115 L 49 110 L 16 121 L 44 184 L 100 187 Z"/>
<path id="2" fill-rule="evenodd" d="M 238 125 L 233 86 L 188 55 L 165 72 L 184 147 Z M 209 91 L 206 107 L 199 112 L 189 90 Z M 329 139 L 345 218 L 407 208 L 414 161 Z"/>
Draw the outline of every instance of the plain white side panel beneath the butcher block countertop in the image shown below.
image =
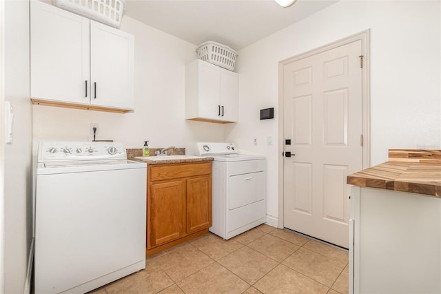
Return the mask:
<path id="1" fill-rule="evenodd" d="M 440 199 L 362 188 L 360 293 L 440 293 Z"/>

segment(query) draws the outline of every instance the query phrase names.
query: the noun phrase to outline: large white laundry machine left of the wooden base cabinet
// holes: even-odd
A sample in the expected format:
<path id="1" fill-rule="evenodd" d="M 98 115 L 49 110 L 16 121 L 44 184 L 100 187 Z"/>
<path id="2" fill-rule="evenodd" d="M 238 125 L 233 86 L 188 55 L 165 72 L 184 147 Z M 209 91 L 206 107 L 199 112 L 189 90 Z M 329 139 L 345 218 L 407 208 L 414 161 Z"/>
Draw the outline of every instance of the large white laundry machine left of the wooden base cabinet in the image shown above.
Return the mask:
<path id="1" fill-rule="evenodd" d="M 147 166 L 123 144 L 41 142 L 34 293 L 85 293 L 145 268 Z"/>

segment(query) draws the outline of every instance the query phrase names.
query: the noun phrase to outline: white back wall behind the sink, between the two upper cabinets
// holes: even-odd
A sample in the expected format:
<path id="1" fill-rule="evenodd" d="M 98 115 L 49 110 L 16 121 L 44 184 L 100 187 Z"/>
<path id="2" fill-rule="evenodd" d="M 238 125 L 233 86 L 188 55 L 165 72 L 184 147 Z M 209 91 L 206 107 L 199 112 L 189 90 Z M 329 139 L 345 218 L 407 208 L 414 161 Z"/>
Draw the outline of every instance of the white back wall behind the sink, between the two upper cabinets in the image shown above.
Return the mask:
<path id="1" fill-rule="evenodd" d="M 127 148 L 185 147 L 197 141 L 223 141 L 225 127 L 185 121 L 185 64 L 197 58 L 196 46 L 124 17 L 121 30 L 135 39 L 135 112 L 115 114 L 33 106 L 34 141 L 91 139 L 90 123 L 99 124 L 96 139 L 122 141 Z"/>

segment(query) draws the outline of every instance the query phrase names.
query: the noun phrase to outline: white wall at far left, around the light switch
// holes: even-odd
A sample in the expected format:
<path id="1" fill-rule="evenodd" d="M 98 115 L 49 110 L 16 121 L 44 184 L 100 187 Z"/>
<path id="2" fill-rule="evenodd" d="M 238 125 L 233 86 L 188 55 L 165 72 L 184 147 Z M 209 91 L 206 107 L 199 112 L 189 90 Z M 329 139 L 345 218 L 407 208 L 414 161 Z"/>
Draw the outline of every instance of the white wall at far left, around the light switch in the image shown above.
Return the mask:
<path id="1" fill-rule="evenodd" d="M 32 108 L 29 3 L 5 2 L 5 97 L 14 108 L 13 141 L 4 146 L 4 293 L 24 293 L 32 240 Z M 1 101 L 3 103 L 3 101 Z M 1 122 L 3 127 L 3 119 Z M 28 281 L 30 282 L 30 281 Z M 29 286 L 27 284 L 26 286 Z M 27 289 L 29 290 L 29 289 Z M 1 289 L 0 289 L 1 291 Z"/>

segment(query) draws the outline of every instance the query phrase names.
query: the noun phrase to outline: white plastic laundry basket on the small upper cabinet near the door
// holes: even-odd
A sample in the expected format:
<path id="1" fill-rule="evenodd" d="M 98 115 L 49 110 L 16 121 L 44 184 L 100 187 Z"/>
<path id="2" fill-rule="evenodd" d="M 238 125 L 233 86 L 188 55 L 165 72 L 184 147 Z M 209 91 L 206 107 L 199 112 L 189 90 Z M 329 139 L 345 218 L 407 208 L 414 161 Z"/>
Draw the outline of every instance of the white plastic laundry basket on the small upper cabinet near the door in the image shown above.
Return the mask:
<path id="1" fill-rule="evenodd" d="M 206 41 L 201 43 L 196 49 L 198 58 L 209 63 L 216 64 L 227 70 L 234 70 L 236 64 L 237 52 L 228 46 L 216 43 L 214 41 Z"/>

